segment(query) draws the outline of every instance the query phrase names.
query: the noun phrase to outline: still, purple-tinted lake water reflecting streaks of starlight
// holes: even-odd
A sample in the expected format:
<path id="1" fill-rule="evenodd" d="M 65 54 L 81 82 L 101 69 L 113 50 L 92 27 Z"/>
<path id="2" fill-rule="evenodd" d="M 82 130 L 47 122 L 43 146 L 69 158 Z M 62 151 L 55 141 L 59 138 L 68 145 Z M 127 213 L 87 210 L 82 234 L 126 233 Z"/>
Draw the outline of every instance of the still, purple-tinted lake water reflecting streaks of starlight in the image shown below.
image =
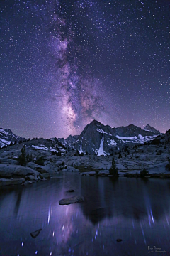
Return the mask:
<path id="1" fill-rule="evenodd" d="M 77 195 L 85 201 L 59 205 Z M 0 189 L 1 256 L 170 255 L 169 224 L 169 180 L 69 173 Z"/>

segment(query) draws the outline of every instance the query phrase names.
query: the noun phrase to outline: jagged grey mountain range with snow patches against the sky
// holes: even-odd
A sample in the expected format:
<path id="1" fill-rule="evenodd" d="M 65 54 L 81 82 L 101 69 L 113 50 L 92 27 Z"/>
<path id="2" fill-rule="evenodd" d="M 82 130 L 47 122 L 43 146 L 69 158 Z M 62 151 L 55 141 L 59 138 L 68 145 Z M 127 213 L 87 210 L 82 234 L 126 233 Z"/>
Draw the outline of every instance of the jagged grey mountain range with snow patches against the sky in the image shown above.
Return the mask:
<path id="1" fill-rule="evenodd" d="M 87 124 L 80 135 L 69 135 L 67 139 L 52 138 L 53 142 L 60 142 L 68 150 L 74 149 L 79 153 L 108 155 L 125 145 L 145 144 L 157 137 L 160 132 L 154 127 L 146 125 L 144 129 L 130 124 L 127 127 L 111 128 L 94 120 Z M 38 146 L 36 140 L 36 146 Z M 10 144 L 26 142 L 25 138 L 13 134 L 10 129 L 0 129 L 0 147 Z"/>

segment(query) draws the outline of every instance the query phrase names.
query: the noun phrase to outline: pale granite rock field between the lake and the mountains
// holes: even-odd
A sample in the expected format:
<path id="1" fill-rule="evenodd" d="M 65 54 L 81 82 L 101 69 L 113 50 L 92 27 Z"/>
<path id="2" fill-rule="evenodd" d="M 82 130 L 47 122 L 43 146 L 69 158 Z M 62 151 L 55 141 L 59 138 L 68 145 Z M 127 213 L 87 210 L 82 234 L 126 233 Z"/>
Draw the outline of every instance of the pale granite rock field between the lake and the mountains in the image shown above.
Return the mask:
<path id="1" fill-rule="evenodd" d="M 113 156 L 74 156 L 75 151 L 56 156 L 52 155 L 51 151 L 26 146 L 26 153 L 31 154 L 33 159 L 26 166 L 21 166 L 18 164 L 18 156 L 21 154 L 22 146 L 8 146 L 0 150 L 0 186 L 31 184 L 52 177 L 61 178 L 60 174 L 65 171 L 74 171 L 82 175 L 109 176 L 108 170 Z M 149 174 L 170 174 L 165 168 L 169 163 L 169 145 L 132 146 L 128 151 L 122 151 L 121 156 L 115 154 L 114 158 L 122 176 L 135 176 L 134 174 L 140 174 L 144 168 Z M 36 164 L 40 157 L 42 163 Z"/>

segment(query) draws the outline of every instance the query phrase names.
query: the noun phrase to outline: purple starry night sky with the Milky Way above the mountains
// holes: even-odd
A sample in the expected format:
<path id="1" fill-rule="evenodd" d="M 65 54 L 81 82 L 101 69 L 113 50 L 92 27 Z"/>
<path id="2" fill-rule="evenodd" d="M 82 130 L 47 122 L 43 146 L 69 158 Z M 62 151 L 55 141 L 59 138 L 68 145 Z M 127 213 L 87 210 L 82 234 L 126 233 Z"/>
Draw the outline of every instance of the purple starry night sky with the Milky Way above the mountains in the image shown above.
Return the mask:
<path id="1" fill-rule="evenodd" d="M 169 0 L 1 0 L 0 127 L 170 128 Z"/>

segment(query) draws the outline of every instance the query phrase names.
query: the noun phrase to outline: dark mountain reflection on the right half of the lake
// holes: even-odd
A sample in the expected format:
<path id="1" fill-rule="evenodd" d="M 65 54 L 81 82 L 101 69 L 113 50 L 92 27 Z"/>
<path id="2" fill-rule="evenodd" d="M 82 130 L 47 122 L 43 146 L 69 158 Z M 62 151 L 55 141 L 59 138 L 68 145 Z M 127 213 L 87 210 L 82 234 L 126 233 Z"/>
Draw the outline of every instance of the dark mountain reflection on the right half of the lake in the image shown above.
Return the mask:
<path id="1" fill-rule="evenodd" d="M 81 191 L 88 198 L 81 209 L 94 224 L 118 216 L 140 221 L 151 212 L 155 220 L 161 220 L 165 211 L 169 212 L 169 184 L 165 180 L 85 176 Z"/>

